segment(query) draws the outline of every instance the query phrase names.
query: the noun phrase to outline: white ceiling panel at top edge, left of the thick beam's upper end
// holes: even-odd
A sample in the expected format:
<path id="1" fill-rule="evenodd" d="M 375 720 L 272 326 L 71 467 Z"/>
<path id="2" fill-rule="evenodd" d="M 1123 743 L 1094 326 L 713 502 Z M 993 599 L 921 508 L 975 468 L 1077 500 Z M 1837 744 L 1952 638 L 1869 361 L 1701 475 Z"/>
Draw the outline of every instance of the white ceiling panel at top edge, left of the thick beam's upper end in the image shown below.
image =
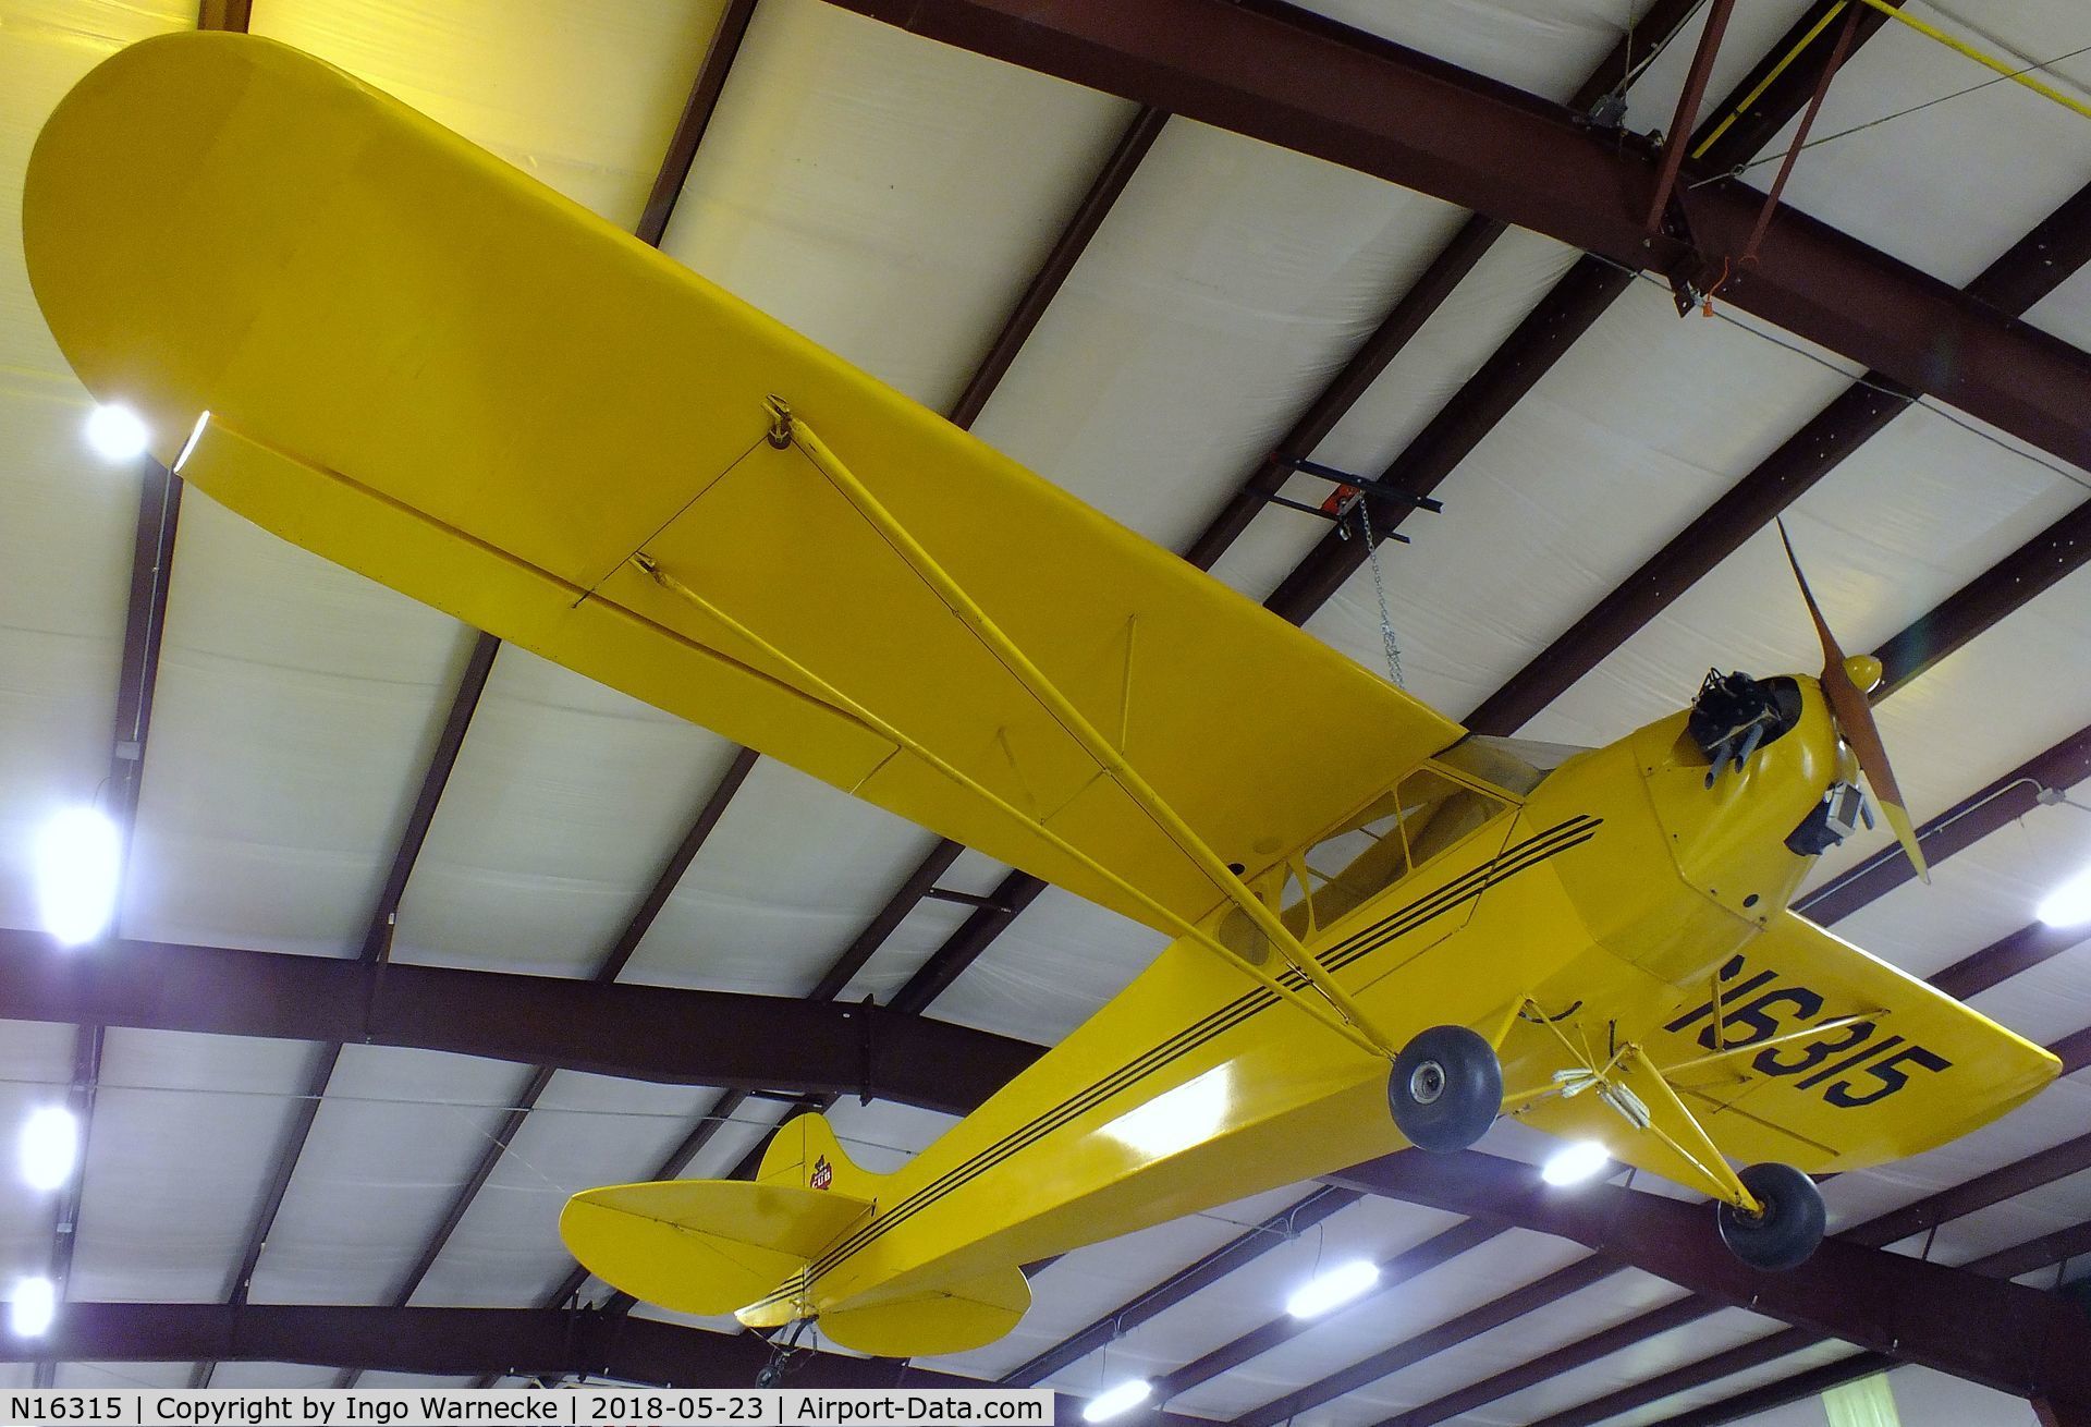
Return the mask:
<path id="1" fill-rule="evenodd" d="M 815 0 L 765 0 L 661 247 L 947 410 L 1131 117 Z"/>

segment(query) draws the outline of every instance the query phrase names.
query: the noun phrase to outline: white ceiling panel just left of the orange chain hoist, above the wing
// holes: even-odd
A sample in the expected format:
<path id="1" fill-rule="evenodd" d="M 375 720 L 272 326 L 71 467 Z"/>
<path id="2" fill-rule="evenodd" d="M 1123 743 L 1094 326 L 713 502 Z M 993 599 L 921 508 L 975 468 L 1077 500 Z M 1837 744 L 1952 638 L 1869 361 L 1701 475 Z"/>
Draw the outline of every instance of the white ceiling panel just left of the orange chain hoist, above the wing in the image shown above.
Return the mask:
<path id="1" fill-rule="evenodd" d="M 974 431 L 1184 548 L 1464 218 L 1173 119 Z"/>

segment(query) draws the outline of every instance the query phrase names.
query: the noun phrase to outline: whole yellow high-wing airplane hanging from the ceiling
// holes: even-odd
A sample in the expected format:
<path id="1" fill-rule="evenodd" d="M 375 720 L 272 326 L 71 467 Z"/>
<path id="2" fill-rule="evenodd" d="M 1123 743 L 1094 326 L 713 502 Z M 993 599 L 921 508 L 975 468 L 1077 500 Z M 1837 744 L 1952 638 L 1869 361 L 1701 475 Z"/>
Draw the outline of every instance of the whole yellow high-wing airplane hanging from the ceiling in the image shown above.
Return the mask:
<path id="1" fill-rule="evenodd" d="M 1811 1174 L 2058 1071 L 1788 910 L 1861 770 L 1922 864 L 1878 665 L 1813 598 L 1819 676 L 1713 676 L 1541 772 L 266 40 L 94 69 L 23 228 L 73 368 L 184 481 L 1175 937 L 895 1174 L 801 1115 L 753 1182 L 575 1195 L 567 1243 L 642 1299 L 960 1352 L 1018 1264 L 1499 1115 L 1704 1191 L 1777 1270 Z"/>

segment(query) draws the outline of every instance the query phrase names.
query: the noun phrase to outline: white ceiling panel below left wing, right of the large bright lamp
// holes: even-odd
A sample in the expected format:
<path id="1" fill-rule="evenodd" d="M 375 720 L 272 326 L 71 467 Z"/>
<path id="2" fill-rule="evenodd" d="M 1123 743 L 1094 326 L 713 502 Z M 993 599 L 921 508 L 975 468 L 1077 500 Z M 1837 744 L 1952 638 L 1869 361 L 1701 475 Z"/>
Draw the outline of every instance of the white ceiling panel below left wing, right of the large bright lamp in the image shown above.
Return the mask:
<path id="1" fill-rule="evenodd" d="M 188 492 L 123 933 L 360 950 L 468 642 Z"/>

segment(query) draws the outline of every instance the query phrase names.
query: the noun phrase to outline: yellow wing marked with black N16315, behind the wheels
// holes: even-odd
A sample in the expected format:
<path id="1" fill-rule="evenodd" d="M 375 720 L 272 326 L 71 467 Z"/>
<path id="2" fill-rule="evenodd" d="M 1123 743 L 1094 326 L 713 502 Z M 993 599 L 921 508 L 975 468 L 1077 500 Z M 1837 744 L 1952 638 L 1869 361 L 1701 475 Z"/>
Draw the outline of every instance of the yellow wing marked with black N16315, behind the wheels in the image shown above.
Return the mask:
<path id="1" fill-rule="evenodd" d="M 1823 1174 L 1917 1155 L 2016 1109 L 2062 1069 L 2041 1046 L 1794 912 L 1773 916 L 1719 975 L 1719 1036 L 1708 983 L 1641 1044 L 1721 1153 L 1744 1163 Z M 1648 1086 L 1627 1084 L 1656 1103 Z M 1629 1132 L 1595 1094 L 1535 1107 L 1531 1124 L 1681 1178 L 1652 1136 Z"/>

